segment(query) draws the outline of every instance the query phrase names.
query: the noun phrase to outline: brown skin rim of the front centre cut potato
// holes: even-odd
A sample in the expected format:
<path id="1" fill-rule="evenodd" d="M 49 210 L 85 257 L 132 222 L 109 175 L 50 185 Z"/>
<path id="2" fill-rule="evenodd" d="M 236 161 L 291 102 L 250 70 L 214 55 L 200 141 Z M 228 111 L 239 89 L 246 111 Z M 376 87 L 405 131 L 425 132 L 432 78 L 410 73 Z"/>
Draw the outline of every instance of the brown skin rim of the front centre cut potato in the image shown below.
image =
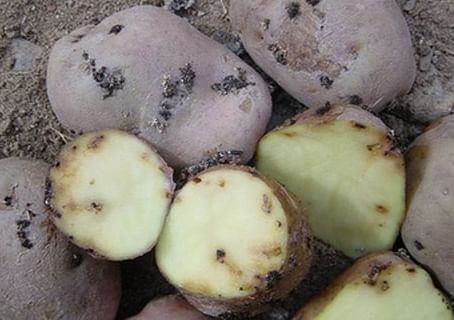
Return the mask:
<path id="1" fill-rule="evenodd" d="M 259 289 L 258 292 L 247 297 L 217 299 L 189 292 L 183 288 L 177 287 L 177 289 L 190 304 L 204 314 L 210 316 L 233 315 L 251 317 L 271 308 L 273 302 L 285 298 L 307 275 L 313 257 L 312 232 L 302 204 L 296 197 L 276 181 L 264 176 L 254 168 L 222 165 L 210 168 L 200 174 L 222 169 L 248 172 L 260 178 L 274 191 L 288 219 L 289 237 L 286 261 L 279 271 L 279 275 L 276 277 L 277 281 L 273 286 Z M 194 177 L 194 179 L 197 179 L 197 177 Z"/>

